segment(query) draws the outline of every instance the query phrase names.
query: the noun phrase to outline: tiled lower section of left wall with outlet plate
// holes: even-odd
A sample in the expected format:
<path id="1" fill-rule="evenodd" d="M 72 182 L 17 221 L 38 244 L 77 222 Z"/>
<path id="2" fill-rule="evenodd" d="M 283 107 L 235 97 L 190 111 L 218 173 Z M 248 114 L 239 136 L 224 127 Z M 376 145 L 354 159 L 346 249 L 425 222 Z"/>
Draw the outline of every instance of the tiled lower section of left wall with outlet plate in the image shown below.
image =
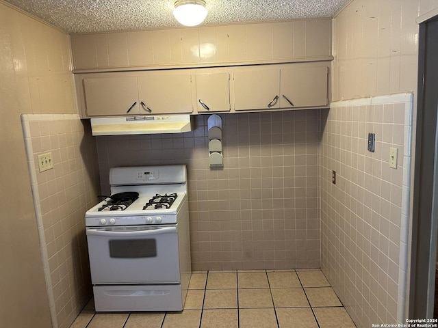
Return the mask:
<path id="1" fill-rule="evenodd" d="M 22 125 L 52 325 L 68 328 L 92 296 L 84 215 L 99 194 L 96 143 L 75 114 L 24 114 Z M 54 167 L 40 172 L 46 152 Z"/>

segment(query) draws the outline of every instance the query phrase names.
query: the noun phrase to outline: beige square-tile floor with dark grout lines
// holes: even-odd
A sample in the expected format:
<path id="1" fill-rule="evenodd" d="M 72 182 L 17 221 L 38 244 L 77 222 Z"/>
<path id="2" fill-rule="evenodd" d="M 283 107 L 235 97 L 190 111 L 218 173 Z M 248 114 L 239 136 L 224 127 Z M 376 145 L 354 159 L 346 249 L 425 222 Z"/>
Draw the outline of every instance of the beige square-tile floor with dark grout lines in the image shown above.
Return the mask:
<path id="1" fill-rule="evenodd" d="M 194 272 L 183 312 L 101 313 L 90 304 L 70 328 L 356 327 L 318 269 Z"/>

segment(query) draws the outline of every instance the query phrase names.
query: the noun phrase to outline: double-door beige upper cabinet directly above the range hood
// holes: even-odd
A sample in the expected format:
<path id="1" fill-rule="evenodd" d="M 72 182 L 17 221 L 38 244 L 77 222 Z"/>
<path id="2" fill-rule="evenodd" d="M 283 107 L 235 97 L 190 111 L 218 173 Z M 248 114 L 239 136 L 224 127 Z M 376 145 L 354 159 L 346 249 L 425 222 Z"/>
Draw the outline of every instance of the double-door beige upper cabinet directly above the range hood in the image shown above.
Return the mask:
<path id="1" fill-rule="evenodd" d="M 190 74 L 103 75 L 83 79 L 83 117 L 193 111 Z"/>

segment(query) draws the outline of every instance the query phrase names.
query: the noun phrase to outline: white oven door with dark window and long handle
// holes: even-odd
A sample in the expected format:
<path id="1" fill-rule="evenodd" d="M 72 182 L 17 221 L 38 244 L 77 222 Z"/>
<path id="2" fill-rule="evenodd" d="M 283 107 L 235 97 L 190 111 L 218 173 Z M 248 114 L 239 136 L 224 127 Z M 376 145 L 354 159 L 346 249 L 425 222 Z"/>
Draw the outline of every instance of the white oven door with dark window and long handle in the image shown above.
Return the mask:
<path id="1" fill-rule="evenodd" d="M 178 284 L 177 225 L 87 228 L 93 284 Z"/>

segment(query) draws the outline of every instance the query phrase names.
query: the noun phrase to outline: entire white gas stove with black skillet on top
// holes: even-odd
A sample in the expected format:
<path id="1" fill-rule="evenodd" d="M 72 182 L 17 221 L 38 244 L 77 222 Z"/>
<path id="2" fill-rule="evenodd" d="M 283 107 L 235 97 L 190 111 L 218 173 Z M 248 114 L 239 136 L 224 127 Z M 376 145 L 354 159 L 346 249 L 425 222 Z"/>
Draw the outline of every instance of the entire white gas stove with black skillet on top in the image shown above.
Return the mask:
<path id="1" fill-rule="evenodd" d="M 185 165 L 114 167 L 86 212 L 96 311 L 181 311 L 191 274 Z"/>

